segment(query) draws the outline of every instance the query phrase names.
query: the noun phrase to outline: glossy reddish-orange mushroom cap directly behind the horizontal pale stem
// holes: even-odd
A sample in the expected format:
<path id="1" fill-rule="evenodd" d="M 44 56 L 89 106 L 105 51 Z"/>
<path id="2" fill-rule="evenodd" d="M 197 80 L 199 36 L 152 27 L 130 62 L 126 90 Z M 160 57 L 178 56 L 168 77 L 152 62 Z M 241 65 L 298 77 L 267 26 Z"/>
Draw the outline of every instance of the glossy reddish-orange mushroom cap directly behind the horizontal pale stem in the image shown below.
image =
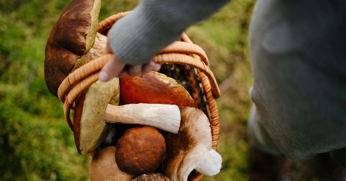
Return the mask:
<path id="1" fill-rule="evenodd" d="M 149 72 L 142 77 L 120 78 L 120 104 L 175 104 L 179 107 L 195 107 L 196 102 L 189 92 L 174 79 L 158 72 Z"/>

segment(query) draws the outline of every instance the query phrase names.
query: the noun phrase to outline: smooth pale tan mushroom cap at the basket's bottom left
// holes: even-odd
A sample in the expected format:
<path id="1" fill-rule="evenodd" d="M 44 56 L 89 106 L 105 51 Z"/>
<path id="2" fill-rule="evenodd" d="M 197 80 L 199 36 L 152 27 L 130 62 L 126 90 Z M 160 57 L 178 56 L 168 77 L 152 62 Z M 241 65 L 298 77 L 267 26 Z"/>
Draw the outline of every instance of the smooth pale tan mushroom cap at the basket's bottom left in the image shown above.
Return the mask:
<path id="1" fill-rule="evenodd" d="M 92 181 L 130 181 L 136 177 L 119 169 L 115 153 L 115 147 L 106 147 L 93 156 L 89 165 L 89 177 Z"/>

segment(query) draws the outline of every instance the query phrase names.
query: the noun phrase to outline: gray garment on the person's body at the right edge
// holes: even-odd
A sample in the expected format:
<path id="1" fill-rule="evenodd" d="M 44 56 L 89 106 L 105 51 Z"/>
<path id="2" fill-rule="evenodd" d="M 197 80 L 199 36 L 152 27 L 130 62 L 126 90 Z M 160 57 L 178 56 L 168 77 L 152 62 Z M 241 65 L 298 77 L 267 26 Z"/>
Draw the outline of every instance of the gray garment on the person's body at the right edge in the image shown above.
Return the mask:
<path id="1" fill-rule="evenodd" d="M 346 147 L 345 7 L 344 0 L 257 1 L 250 97 L 258 122 L 292 158 Z"/>

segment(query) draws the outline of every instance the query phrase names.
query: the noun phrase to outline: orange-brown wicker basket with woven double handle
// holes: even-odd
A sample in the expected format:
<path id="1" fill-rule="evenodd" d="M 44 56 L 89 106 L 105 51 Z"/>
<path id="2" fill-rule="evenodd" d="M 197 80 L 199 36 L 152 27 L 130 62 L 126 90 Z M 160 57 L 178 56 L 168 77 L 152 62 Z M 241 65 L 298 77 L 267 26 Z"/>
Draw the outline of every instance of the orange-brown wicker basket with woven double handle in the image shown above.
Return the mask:
<path id="1" fill-rule="evenodd" d="M 98 32 L 106 35 L 113 23 L 128 12 L 110 16 L 99 23 Z M 73 130 L 73 120 L 70 117 L 71 108 L 79 95 L 99 79 L 99 71 L 110 60 L 112 54 L 92 60 L 76 69 L 61 83 L 58 91 L 59 99 L 64 102 L 64 114 L 67 123 Z M 153 58 L 156 63 L 162 63 L 160 73 L 175 79 L 197 102 L 208 117 L 211 125 L 212 149 L 217 149 L 220 135 L 219 113 L 215 98 L 220 96 L 220 90 L 204 51 L 182 33 L 180 40 L 165 47 Z M 198 181 L 203 174 L 192 171 L 188 180 Z"/>

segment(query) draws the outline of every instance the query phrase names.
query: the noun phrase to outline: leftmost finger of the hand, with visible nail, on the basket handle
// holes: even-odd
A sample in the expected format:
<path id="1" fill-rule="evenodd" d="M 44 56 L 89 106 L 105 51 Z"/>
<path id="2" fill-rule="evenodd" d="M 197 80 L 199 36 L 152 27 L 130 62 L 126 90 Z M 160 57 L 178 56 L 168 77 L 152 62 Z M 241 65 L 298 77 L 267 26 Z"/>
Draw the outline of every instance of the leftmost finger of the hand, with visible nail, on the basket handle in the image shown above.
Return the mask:
<path id="1" fill-rule="evenodd" d="M 99 80 L 101 82 L 106 82 L 113 77 L 119 76 L 124 67 L 125 63 L 121 62 L 115 56 L 113 56 L 112 59 L 110 59 L 101 69 Z"/>

